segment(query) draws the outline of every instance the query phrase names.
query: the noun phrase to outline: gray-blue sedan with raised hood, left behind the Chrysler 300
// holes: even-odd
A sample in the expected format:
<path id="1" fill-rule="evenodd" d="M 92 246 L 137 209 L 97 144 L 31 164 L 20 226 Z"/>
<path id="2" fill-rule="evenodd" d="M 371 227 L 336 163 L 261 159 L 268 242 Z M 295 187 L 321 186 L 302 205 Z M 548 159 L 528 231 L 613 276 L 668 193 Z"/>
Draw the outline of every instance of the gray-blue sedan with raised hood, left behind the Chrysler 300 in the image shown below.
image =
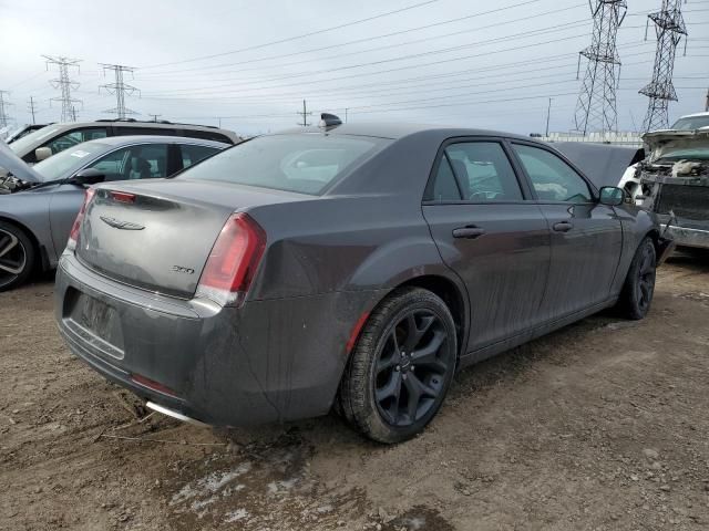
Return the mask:
<path id="1" fill-rule="evenodd" d="M 175 136 L 86 142 L 30 167 L 0 142 L 0 291 L 56 267 L 86 186 L 167 177 L 228 147 Z"/>

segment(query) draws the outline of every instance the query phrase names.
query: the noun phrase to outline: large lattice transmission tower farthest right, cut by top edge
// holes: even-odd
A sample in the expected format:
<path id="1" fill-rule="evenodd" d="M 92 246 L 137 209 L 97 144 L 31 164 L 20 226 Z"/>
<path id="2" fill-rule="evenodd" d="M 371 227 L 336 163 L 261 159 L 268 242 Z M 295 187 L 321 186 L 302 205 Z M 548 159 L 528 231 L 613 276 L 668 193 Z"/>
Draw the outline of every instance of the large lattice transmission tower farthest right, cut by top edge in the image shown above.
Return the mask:
<path id="1" fill-rule="evenodd" d="M 648 14 L 648 24 L 650 20 L 655 23 L 657 49 L 655 51 L 653 81 L 639 91 L 640 94 L 650 98 L 647 115 L 645 116 L 645 122 L 643 122 L 643 131 L 645 132 L 669 127 L 667 112 L 669 102 L 677 101 L 677 92 L 672 84 L 675 55 L 682 35 L 687 35 L 681 0 L 662 0 L 660 10 Z M 647 29 L 645 33 L 647 39 Z"/>

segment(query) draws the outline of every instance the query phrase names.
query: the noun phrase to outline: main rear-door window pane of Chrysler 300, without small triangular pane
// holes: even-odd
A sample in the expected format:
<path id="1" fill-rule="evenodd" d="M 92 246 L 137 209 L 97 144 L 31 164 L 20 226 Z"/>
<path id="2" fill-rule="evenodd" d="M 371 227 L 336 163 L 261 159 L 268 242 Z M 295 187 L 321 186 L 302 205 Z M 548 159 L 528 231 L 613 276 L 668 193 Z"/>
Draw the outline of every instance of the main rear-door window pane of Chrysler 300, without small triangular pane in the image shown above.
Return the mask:
<path id="1" fill-rule="evenodd" d="M 445 155 L 458 177 L 463 199 L 474 202 L 520 201 L 520 183 L 502 145 L 496 142 L 451 144 Z"/>

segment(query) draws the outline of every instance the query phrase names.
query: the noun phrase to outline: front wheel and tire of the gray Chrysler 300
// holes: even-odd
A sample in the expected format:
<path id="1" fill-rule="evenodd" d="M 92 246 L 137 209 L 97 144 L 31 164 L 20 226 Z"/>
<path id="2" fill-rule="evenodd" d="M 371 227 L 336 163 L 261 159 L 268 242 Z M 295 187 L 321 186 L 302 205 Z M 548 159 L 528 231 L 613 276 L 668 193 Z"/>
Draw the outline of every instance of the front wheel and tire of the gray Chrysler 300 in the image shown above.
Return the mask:
<path id="1" fill-rule="evenodd" d="M 656 267 L 655 244 L 646 237 L 633 257 L 618 300 L 618 309 L 626 319 L 644 319 L 650 310 L 655 293 Z"/>

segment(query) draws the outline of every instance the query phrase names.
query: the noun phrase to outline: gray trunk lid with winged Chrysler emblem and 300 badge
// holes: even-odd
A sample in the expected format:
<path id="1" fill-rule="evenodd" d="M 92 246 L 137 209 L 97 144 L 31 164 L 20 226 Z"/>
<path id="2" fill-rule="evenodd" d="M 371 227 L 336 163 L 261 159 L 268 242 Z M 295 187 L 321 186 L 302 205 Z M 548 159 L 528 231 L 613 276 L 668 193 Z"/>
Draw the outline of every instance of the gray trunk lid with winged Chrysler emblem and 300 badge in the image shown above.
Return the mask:
<path id="1" fill-rule="evenodd" d="M 120 183 L 96 189 L 76 257 L 101 274 L 191 298 L 212 248 L 235 210 L 300 197 L 187 179 Z"/>

